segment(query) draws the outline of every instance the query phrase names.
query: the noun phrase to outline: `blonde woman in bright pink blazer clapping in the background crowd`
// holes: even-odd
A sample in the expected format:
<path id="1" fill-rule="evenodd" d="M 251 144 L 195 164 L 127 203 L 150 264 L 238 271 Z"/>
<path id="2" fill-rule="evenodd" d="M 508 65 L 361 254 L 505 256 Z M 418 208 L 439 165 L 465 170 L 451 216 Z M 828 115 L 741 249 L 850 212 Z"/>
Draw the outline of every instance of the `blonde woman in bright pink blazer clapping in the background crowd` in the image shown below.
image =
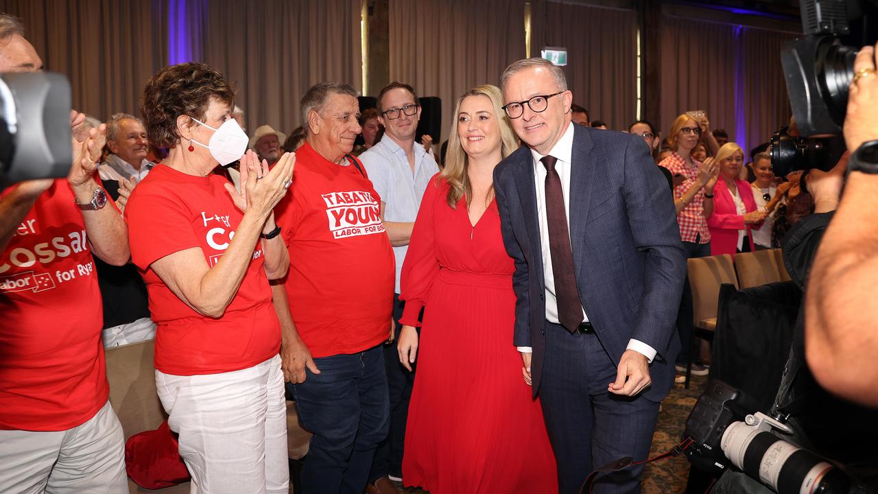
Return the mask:
<path id="1" fill-rule="evenodd" d="M 738 178 L 744 166 L 744 151 L 727 142 L 716 153 L 720 180 L 716 182 L 713 213 L 708 217 L 710 255 L 734 255 L 754 250 L 752 229 L 762 226 L 765 211 L 759 211 L 750 184 Z"/>

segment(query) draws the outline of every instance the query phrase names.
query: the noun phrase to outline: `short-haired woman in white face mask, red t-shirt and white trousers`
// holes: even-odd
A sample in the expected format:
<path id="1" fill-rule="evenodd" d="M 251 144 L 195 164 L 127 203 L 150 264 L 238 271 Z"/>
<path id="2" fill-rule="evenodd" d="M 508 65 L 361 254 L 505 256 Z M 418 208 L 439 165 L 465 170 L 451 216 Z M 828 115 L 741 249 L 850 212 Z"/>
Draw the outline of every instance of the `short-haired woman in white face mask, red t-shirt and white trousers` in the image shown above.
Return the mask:
<path id="1" fill-rule="evenodd" d="M 126 207 L 132 259 L 158 325 L 155 381 L 193 492 L 287 492 L 280 325 L 270 279 L 289 257 L 272 208 L 293 155 L 269 171 L 232 118 L 234 91 L 202 63 L 162 69 L 140 112 L 169 156 Z M 241 190 L 211 171 L 241 158 Z"/>

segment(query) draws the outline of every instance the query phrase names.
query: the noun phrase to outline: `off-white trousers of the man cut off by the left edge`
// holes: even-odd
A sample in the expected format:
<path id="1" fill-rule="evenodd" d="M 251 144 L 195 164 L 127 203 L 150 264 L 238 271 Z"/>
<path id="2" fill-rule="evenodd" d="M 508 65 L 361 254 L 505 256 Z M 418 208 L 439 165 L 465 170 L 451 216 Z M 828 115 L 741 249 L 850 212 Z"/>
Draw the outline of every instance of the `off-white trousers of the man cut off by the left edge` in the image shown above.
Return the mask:
<path id="1" fill-rule="evenodd" d="M 0 431 L 0 492 L 127 494 L 124 435 L 110 402 L 67 431 Z"/>

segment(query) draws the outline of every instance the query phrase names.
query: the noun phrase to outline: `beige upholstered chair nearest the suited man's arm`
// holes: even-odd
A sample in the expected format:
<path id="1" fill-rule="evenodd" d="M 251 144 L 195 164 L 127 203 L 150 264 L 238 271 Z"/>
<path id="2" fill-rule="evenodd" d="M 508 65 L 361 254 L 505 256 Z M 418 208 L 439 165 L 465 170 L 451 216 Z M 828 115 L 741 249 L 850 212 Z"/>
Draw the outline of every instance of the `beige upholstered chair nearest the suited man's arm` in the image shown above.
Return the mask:
<path id="1" fill-rule="evenodd" d="M 740 255 L 740 254 L 738 254 Z M 716 306 L 719 300 L 719 288 L 723 283 L 730 283 L 738 288 L 738 277 L 729 254 L 711 256 L 709 258 L 690 258 L 687 263 L 689 285 L 692 287 L 692 306 L 694 331 L 690 338 L 689 360 L 686 364 L 686 387 L 692 376 L 695 338 L 713 339 L 716 330 Z"/>

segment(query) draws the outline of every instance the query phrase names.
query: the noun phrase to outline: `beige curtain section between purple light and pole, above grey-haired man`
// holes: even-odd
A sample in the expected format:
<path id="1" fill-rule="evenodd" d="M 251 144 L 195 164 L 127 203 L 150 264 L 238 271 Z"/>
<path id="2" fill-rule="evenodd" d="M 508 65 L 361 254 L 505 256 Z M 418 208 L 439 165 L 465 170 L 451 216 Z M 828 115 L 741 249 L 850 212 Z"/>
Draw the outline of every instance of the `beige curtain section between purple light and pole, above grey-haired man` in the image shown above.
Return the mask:
<path id="1" fill-rule="evenodd" d="M 299 100 L 313 84 L 363 87 L 360 0 L 210 0 L 205 62 L 238 88 L 248 132 L 301 125 Z"/>

